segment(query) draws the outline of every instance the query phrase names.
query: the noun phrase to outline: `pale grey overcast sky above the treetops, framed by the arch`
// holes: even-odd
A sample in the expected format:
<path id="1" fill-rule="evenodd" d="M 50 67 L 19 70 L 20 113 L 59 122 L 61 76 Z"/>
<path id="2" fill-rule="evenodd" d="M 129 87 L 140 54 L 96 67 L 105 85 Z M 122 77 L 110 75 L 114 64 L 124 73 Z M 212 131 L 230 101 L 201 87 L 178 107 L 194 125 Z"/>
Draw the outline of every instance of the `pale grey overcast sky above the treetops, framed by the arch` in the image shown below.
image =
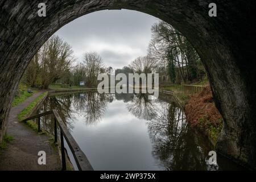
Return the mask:
<path id="1" fill-rule="evenodd" d="M 131 10 L 104 10 L 82 16 L 55 35 L 68 42 L 77 61 L 85 52 L 97 52 L 106 67 L 122 68 L 147 54 L 151 26 L 159 19 Z"/>

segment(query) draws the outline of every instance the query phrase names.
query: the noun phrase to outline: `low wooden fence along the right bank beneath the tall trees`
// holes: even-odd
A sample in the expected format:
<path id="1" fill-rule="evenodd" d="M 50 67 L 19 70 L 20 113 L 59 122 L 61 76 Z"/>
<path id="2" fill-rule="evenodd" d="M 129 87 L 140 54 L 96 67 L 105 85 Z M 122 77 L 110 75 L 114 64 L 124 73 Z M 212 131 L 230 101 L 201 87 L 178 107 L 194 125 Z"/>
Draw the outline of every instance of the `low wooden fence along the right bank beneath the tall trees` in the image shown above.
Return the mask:
<path id="1" fill-rule="evenodd" d="M 204 89 L 204 86 L 201 85 L 159 85 L 159 87 L 168 87 L 170 89 L 180 90 L 185 93 L 200 93 Z"/>

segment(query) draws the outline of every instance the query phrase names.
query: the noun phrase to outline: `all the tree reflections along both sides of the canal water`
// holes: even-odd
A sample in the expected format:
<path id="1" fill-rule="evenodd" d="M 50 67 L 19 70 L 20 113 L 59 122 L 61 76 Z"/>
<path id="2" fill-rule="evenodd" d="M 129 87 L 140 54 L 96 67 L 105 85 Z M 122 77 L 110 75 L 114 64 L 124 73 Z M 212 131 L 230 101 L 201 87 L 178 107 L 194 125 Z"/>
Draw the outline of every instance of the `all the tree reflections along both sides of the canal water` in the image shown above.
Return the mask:
<path id="1" fill-rule="evenodd" d="M 174 102 L 148 100 L 148 94 L 71 93 L 49 97 L 40 112 L 56 109 L 70 130 L 78 115 L 86 125 L 99 122 L 106 107 L 115 99 L 127 102 L 127 109 L 139 119 L 147 120 L 152 155 L 166 170 L 207 170 L 210 151 L 185 121 L 183 110 Z M 78 115 L 77 115 L 78 114 Z M 53 122 L 45 119 L 47 131 L 53 133 Z"/>

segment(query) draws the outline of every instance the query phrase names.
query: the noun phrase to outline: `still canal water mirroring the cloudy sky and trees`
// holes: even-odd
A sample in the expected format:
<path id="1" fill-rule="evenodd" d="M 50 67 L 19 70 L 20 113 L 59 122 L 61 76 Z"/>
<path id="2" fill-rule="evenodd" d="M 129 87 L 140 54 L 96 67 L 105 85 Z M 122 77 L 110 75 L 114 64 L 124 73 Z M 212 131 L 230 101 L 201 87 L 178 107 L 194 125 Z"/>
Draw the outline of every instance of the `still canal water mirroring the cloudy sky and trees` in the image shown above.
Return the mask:
<path id="1" fill-rule="evenodd" d="M 209 164 L 213 147 L 170 97 L 66 93 L 48 97 L 36 112 L 56 109 L 94 170 L 240 169 L 219 155 Z M 42 118 L 42 129 L 53 134 L 51 116 Z"/>

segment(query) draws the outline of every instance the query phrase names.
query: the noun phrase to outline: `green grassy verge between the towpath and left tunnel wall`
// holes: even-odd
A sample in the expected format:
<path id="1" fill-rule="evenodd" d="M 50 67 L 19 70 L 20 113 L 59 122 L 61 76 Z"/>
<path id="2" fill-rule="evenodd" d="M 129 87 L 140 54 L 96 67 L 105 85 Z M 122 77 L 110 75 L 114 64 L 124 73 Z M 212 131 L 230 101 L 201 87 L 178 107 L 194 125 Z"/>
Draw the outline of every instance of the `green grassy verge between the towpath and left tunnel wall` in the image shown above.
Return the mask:
<path id="1" fill-rule="evenodd" d="M 28 97 L 31 97 L 34 93 L 37 92 L 37 90 L 32 89 L 33 93 L 28 93 L 27 92 L 27 86 L 24 85 L 24 84 L 19 84 L 19 90 L 20 90 L 19 96 L 15 96 L 13 102 L 11 103 L 11 106 L 13 106 L 13 107 L 22 103 Z"/>

